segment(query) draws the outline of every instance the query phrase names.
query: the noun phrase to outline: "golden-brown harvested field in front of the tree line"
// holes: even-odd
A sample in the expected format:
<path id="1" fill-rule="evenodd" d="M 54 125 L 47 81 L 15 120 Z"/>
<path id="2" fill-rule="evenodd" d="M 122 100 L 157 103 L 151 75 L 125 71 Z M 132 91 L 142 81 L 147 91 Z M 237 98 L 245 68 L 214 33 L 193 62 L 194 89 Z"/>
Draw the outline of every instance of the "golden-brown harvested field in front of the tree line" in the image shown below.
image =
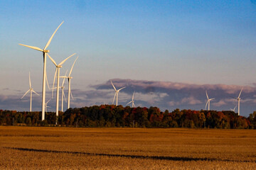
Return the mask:
<path id="1" fill-rule="evenodd" d="M 0 127 L 0 169 L 256 169 L 256 130 Z"/>

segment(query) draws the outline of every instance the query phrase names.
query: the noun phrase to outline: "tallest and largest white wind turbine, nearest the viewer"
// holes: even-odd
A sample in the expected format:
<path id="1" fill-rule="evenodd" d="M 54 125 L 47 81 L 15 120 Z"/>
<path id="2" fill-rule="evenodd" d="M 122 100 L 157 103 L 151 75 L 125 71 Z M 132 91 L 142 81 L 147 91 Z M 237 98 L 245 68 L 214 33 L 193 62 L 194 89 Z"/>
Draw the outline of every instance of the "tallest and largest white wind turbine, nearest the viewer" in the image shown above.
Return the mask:
<path id="1" fill-rule="evenodd" d="M 63 21 L 64 22 L 64 21 Z M 60 23 L 60 26 L 63 24 Z M 60 28 L 60 26 L 58 26 L 58 28 Z M 46 109 L 46 54 L 48 52 L 50 52 L 50 50 L 46 50 L 46 48 L 50 45 L 50 41 L 53 39 L 53 36 L 55 35 L 56 31 L 58 30 L 58 28 L 54 31 L 53 35 L 51 35 L 50 39 L 48 40 L 48 42 L 46 43 L 46 46 L 43 48 L 43 50 L 39 47 L 34 47 L 34 46 L 30 46 L 30 45 L 23 45 L 23 44 L 18 44 L 18 45 L 23 45 L 25 47 L 30 47 L 33 50 L 38 50 L 43 52 L 43 90 L 42 90 L 42 120 L 45 120 L 45 109 Z"/>

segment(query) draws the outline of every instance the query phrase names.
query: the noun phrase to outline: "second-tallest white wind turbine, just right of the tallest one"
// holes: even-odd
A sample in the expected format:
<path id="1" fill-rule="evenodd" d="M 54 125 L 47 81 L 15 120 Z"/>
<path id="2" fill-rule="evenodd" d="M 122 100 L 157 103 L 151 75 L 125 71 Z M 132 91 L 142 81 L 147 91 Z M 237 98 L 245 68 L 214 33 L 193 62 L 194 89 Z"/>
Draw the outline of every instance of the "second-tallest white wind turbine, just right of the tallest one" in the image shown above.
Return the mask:
<path id="1" fill-rule="evenodd" d="M 48 54 L 47 54 L 48 55 Z M 73 54 L 75 55 L 75 53 Z M 55 77 L 56 77 L 56 72 L 57 72 L 57 93 L 56 93 L 56 115 L 58 116 L 58 103 L 59 103 L 59 88 L 60 88 L 60 68 L 62 67 L 62 64 L 68 60 L 70 57 L 72 57 L 73 55 L 70 55 L 69 57 L 67 57 L 65 60 L 63 60 L 62 62 L 60 62 L 60 64 L 56 64 L 56 62 L 53 60 L 52 57 L 50 57 L 50 55 L 48 55 L 48 57 L 50 58 L 50 60 L 53 62 L 53 64 L 55 64 L 56 69 L 55 69 L 55 74 L 54 74 L 54 79 L 53 79 L 53 86 L 54 86 L 54 81 L 55 81 Z M 54 88 L 54 87 L 53 87 Z"/>

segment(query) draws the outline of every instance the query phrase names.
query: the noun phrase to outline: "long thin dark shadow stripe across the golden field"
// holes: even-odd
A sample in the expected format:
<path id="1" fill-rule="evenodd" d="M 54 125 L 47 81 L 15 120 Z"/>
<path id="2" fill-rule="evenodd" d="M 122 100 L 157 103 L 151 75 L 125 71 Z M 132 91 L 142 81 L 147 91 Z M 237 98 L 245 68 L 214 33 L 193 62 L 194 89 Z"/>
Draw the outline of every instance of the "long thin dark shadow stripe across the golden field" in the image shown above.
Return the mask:
<path id="1" fill-rule="evenodd" d="M 163 157 L 163 156 L 143 156 L 143 155 L 130 155 L 130 154 L 93 154 L 87 152 L 71 152 L 71 151 L 55 151 L 48 149 L 30 149 L 21 147 L 3 147 L 6 149 L 16 149 L 28 152 L 50 152 L 50 153 L 65 153 L 65 154 L 84 154 L 90 156 L 107 156 L 107 157 L 129 157 L 139 159 L 158 159 L 158 160 L 170 160 L 170 161 L 220 161 L 220 162 L 256 162 L 256 161 L 242 161 L 242 160 L 230 160 L 230 159 L 215 159 L 215 158 L 192 158 L 192 157 Z"/>

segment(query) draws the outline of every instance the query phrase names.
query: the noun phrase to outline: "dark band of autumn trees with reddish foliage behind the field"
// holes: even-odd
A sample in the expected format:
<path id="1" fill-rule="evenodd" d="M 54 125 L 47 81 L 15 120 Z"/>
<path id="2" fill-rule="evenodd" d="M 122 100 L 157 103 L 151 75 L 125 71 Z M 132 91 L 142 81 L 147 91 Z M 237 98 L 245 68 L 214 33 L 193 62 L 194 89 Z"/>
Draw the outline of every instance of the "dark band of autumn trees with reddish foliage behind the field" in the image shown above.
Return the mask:
<path id="1" fill-rule="evenodd" d="M 46 113 L 41 120 L 41 112 L 19 112 L 0 110 L 0 125 L 65 127 L 126 127 L 126 128 L 223 128 L 255 129 L 256 111 L 248 118 L 233 111 L 192 111 L 168 110 L 162 112 L 157 107 L 131 108 L 114 105 L 69 108 L 59 112 Z"/>

